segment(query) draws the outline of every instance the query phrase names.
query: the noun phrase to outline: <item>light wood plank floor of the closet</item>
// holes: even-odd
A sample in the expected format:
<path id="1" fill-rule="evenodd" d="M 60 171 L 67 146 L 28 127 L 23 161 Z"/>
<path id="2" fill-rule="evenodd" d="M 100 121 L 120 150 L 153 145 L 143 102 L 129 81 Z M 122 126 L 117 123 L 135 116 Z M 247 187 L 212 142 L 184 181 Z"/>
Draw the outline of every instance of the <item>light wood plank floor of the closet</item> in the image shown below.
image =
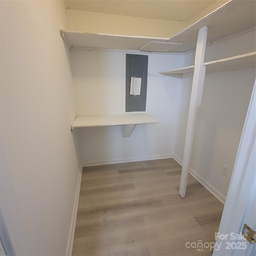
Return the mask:
<path id="1" fill-rule="evenodd" d="M 223 204 L 172 158 L 83 169 L 73 256 L 209 256 Z M 189 244 L 187 244 L 188 247 Z M 207 246 L 207 244 L 206 244 Z"/>

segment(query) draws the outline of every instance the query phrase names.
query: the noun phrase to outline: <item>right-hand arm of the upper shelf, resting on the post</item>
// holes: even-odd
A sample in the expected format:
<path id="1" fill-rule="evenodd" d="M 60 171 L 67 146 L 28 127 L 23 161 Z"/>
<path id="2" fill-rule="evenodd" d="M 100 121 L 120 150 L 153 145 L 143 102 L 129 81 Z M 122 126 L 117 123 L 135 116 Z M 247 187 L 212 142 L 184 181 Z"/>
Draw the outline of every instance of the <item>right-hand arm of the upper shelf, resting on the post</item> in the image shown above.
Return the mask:
<path id="1" fill-rule="evenodd" d="M 255 30 L 255 8 L 256 1 L 232 0 L 171 37 L 168 42 L 182 42 L 181 45 L 173 45 L 172 50 L 186 52 L 196 48 L 198 30 L 204 26 L 208 26 L 206 44 Z"/>

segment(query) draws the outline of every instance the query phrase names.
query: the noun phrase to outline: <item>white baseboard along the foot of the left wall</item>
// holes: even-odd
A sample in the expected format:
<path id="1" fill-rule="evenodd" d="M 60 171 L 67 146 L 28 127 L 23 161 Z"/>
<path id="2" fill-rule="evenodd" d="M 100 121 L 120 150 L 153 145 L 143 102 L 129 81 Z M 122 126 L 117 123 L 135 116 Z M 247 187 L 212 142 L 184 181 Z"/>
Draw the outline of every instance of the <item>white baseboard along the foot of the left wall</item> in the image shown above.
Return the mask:
<path id="1" fill-rule="evenodd" d="M 76 228 L 76 215 L 77 215 L 77 210 L 78 210 L 78 201 L 79 201 L 79 193 L 80 193 L 83 168 L 81 167 L 80 169 L 81 169 L 81 171 L 78 174 L 74 206 L 73 206 L 73 211 L 72 211 L 72 216 L 71 216 L 71 221 L 70 221 L 68 243 L 67 243 L 67 247 L 66 247 L 66 256 L 72 256 L 72 250 L 73 250 L 73 244 L 74 244 L 74 234 L 75 234 L 75 228 Z"/>

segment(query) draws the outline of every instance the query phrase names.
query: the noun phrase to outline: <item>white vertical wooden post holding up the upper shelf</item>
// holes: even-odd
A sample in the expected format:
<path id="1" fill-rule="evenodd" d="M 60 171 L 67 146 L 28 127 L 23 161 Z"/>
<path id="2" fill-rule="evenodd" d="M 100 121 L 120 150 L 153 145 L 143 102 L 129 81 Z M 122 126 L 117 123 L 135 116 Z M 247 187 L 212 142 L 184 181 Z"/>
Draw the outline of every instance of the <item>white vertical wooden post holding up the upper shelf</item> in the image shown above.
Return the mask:
<path id="1" fill-rule="evenodd" d="M 190 163 L 190 156 L 192 150 L 192 142 L 194 136 L 194 128 L 196 122 L 196 112 L 198 102 L 201 101 L 202 97 L 202 86 L 204 84 L 204 74 L 206 68 L 204 67 L 204 53 L 206 48 L 207 38 L 207 26 L 200 28 L 198 33 L 198 39 L 196 44 L 196 57 L 195 57 L 195 69 L 192 82 L 192 92 L 190 98 L 190 106 L 188 112 L 188 124 L 183 156 L 183 165 L 180 179 L 180 196 L 185 198 L 186 187 L 188 181 L 188 168 Z M 200 93 L 201 91 L 201 93 Z M 201 95 L 200 95 L 201 94 Z"/>

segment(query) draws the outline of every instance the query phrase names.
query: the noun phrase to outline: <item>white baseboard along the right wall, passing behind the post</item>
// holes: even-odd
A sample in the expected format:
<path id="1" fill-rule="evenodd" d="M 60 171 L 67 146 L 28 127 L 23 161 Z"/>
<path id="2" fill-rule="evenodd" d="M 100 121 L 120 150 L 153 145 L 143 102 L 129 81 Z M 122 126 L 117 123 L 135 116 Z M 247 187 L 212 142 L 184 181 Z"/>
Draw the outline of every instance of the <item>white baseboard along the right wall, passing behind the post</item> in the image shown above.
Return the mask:
<path id="1" fill-rule="evenodd" d="M 178 156 L 173 155 L 174 160 L 176 160 L 182 166 L 182 160 Z M 216 188 L 214 188 L 209 182 L 202 178 L 197 172 L 192 168 L 188 171 L 202 186 L 204 186 L 210 193 L 212 193 L 222 204 L 225 204 L 226 196 L 220 193 Z"/>

